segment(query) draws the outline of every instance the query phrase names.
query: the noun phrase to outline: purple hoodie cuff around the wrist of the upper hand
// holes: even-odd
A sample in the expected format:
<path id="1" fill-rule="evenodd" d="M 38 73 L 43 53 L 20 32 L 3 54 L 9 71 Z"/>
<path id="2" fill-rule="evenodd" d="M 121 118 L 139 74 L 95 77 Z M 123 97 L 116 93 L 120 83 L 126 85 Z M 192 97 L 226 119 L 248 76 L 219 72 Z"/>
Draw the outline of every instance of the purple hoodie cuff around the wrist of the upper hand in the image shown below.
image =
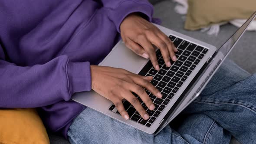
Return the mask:
<path id="1" fill-rule="evenodd" d="M 148 2 L 138 3 L 132 0 L 121 2 L 115 9 L 108 9 L 108 17 L 115 23 L 116 29 L 120 33 L 120 25 L 125 17 L 137 12 L 143 13 L 147 16 L 147 20 L 152 22 L 153 6 Z"/>

